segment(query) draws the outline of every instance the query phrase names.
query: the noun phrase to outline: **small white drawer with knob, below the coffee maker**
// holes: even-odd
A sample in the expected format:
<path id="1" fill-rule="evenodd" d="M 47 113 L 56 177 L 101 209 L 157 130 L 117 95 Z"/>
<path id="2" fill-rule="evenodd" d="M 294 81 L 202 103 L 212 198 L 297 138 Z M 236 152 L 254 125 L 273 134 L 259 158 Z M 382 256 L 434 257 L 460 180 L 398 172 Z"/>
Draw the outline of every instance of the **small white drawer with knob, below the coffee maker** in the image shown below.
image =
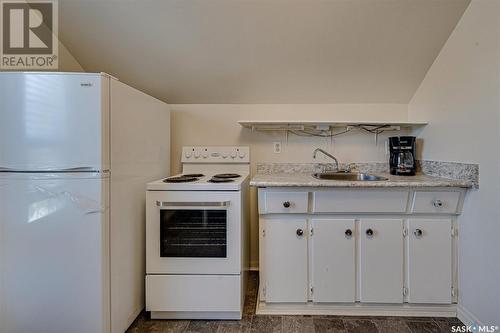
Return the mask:
<path id="1" fill-rule="evenodd" d="M 456 213 L 460 192 L 416 191 L 412 213 Z"/>

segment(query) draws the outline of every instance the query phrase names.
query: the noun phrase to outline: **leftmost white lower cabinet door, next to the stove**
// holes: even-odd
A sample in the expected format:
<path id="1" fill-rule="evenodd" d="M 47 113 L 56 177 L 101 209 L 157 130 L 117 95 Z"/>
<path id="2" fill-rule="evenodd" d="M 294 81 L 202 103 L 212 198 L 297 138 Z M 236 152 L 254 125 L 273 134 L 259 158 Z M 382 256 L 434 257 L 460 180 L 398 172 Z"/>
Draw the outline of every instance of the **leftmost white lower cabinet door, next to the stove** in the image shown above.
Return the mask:
<path id="1" fill-rule="evenodd" d="M 266 302 L 307 302 L 307 221 L 266 220 Z"/>

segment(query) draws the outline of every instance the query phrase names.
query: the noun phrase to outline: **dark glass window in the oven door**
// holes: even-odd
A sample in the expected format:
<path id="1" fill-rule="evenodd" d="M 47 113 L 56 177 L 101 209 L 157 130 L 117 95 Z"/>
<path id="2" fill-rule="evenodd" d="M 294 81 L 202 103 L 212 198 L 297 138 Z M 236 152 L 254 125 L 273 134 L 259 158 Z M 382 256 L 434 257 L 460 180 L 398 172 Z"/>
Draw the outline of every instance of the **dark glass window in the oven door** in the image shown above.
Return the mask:
<path id="1" fill-rule="evenodd" d="M 160 256 L 225 258 L 227 210 L 160 210 Z"/>

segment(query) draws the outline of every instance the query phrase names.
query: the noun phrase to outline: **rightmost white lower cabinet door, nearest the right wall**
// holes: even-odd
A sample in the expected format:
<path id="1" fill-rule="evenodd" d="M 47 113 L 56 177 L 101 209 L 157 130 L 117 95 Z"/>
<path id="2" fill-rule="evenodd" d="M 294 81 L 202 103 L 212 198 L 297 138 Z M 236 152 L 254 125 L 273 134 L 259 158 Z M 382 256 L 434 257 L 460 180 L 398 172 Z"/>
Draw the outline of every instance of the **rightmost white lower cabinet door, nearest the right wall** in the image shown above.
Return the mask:
<path id="1" fill-rule="evenodd" d="M 408 302 L 451 303 L 451 220 L 411 219 Z"/>

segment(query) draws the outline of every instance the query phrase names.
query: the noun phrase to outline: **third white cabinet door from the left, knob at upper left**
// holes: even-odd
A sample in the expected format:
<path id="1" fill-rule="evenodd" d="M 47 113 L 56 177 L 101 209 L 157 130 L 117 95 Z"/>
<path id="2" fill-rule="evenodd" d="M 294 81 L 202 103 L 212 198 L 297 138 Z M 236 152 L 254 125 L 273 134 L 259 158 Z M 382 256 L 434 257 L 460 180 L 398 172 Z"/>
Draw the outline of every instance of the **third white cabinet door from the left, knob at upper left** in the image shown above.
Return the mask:
<path id="1" fill-rule="evenodd" d="M 403 220 L 360 221 L 360 300 L 403 302 Z"/>

